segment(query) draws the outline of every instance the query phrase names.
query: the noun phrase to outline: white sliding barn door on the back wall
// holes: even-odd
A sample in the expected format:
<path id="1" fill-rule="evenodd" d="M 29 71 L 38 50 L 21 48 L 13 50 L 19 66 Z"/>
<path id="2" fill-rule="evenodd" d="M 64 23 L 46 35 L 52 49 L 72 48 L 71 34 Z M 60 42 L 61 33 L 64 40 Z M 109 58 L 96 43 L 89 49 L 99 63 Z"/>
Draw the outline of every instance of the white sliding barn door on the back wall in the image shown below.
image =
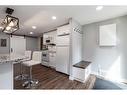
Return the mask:
<path id="1" fill-rule="evenodd" d="M 10 38 L 10 52 L 24 55 L 26 50 L 26 39 L 21 36 L 12 36 Z"/>

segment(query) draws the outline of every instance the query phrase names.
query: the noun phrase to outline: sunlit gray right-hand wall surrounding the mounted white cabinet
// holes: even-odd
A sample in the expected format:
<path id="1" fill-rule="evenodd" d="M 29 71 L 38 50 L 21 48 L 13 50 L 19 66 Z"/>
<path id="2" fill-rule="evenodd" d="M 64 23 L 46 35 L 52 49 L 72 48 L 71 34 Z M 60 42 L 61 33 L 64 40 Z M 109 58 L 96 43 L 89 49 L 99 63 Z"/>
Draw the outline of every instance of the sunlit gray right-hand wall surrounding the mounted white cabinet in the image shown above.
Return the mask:
<path id="1" fill-rule="evenodd" d="M 99 25 L 117 24 L 117 46 L 100 47 L 98 44 Z M 83 26 L 83 59 L 92 61 L 92 71 L 107 73 L 112 68 L 122 79 L 127 80 L 127 16 L 109 19 Z M 118 65 L 119 64 L 119 65 Z M 118 72 L 120 69 L 120 72 Z M 113 76 L 110 76 L 113 77 Z"/>

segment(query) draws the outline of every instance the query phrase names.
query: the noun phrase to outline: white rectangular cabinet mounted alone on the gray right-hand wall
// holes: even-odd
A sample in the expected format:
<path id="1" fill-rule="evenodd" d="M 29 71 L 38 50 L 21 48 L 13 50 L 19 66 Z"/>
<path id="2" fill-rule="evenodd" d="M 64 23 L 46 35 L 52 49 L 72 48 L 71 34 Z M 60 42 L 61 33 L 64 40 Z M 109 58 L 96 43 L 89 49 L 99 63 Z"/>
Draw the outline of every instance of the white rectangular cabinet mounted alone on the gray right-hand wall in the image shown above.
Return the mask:
<path id="1" fill-rule="evenodd" d="M 116 45 L 116 24 L 108 24 L 99 27 L 99 45 Z"/>

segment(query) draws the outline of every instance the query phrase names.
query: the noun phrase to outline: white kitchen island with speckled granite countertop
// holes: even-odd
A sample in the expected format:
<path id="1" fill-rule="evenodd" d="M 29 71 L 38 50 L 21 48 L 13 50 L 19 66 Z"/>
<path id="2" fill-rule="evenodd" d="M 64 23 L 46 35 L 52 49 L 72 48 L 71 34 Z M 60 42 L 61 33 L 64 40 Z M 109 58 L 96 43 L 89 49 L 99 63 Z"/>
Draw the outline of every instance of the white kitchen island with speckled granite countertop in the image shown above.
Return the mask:
<path id="1" fill-rule="evenodd" d="M 0 89 L 13 89 L 13 64 L 25 58 L 19 54 L 0 54 Z"/>

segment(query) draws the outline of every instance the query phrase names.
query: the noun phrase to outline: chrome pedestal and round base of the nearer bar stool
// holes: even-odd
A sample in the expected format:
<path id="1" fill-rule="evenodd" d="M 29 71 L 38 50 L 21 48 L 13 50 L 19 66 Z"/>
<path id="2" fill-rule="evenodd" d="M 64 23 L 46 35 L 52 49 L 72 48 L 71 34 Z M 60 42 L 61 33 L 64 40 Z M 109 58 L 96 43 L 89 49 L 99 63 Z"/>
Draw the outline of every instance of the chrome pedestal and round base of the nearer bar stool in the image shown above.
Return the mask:
<path id="1" fill-rule="evenodd" d="M 32 78 L 32 66 L 30 66 L 30 78 L 23 83 L 22 86 L 25 88 L 33 88 L 38 85 L 39 81 L 37 79 Z"/>

